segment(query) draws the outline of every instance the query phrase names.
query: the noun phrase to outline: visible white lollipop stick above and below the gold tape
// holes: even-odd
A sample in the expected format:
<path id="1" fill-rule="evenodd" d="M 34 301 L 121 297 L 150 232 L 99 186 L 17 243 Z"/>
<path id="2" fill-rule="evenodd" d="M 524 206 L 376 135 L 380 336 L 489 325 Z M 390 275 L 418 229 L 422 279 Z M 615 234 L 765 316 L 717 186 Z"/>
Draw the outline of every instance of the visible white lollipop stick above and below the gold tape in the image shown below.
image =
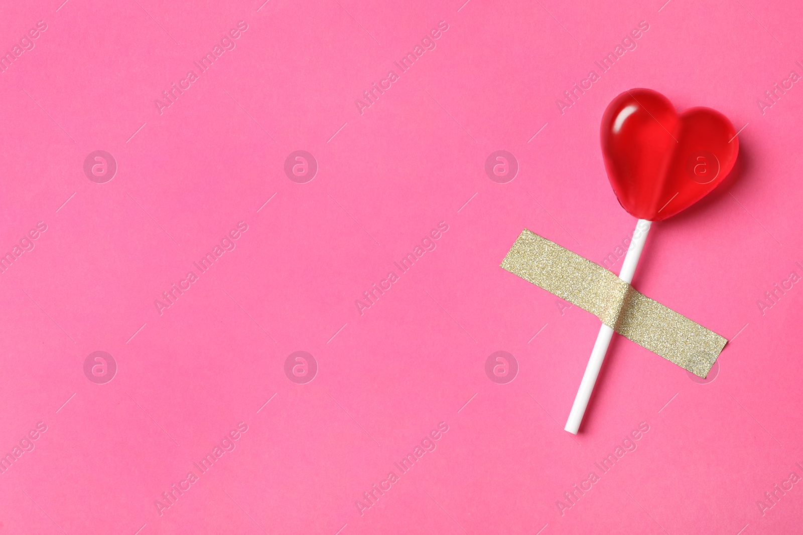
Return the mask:
<path id="1" fill-rule="evenodd" d="M 644 241 L 647 239 L 647 232 L 649 230 L 650 221 L 639 219 L 638 223 L 636 223 L 633 239 L 630 241 L 630 247 L 627 249 L 625 261 L 622 264 L 622 271 L 619 273 L 619 278 L 628 284 L 633 280 L 633 274 L 636 271 L 636 265 L 638 265 L 638 258 L 642 256 Z M 577 435 L 577 429 L 580 428 L 580 423 L 583 421 L 585 407 L 589 404 L 591 391 L 594 389 L 594 383 L 597 382 L 597 375 L 600 373 L 602 361 L 605 359 L 605 352 L 608 351 L 608 345 L 612 336 L 613 328 L 603 323 L 600 327 L 600 333 L 597 334 L 597 342 L 594 342 L 594 348 L 591 350 L 589 364 L 585 367 L 585 373 L 583 374 L 583 380 L 580 382 L 580 388 L 577 390 L 577 396 L 574 398 L 572 411 L 569 412 L 569 420 L 566 422 L 566 427 L 564 428 L 573 435 Z"/>

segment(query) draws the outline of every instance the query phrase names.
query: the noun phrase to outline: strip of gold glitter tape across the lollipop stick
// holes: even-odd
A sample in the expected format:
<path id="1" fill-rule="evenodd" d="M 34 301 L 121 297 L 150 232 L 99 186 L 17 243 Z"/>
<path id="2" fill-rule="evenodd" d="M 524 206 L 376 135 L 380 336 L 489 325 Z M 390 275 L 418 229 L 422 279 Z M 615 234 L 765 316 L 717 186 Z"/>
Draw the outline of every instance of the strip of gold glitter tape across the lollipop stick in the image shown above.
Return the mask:
<path id="1" fill-rule="evenodd" d="M 600 318 L 671 363 L 705 377 L 728 342 L 712 330 L 634 290 L 601 265 L 521 231 L 501 267 Z"/>

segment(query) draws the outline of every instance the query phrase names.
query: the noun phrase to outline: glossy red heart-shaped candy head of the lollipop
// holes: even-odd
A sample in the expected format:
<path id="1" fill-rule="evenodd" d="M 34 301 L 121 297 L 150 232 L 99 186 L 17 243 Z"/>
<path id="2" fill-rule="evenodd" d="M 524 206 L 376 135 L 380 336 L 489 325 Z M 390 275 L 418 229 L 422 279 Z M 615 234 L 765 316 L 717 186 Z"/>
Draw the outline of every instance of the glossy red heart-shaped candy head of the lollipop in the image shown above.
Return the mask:
<path id="1" fill-rule="evenodd" d="M 739 138 L 709 107 L 678 114 L 664 95 L 631 89 L 605 109 L 602 156 L 613 193 L 630 215 L 661 221 L 695 204 L 728 176 Z"/>

